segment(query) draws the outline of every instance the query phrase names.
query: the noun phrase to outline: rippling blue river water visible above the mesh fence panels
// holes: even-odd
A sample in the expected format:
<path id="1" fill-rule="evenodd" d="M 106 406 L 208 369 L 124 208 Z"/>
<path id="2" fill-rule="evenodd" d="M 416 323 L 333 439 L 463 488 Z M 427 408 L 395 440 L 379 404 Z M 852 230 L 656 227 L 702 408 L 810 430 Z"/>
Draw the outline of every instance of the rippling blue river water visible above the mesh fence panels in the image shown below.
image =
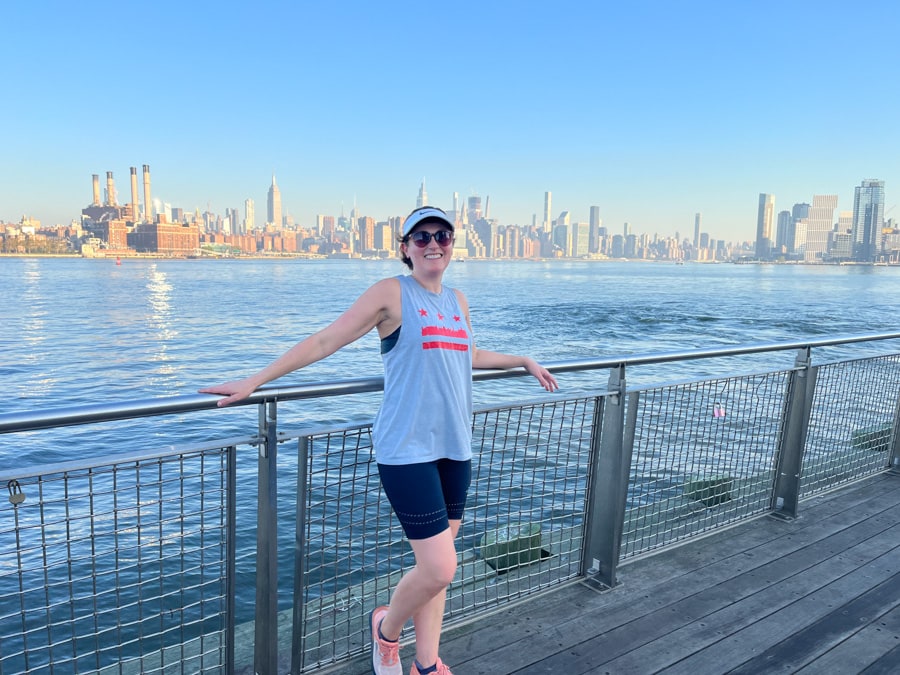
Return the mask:
<path id="1" fill-rule="evenodd" d="M 0 259 L 0 412 L 191 394 L 261 368 L 335 319 L 396 260 Z M 625 354 L 896 331 L 900 268 L 637 262 L 453 262 L 445 281 L 468 297 L 479 346 L 545 363 Z M 869 354 L 883 345 L 856 346 Z M 778 363 L 771 355 L 751 369 Z M 776 359 L 777 360 L 777 359 Z M 648 381 L 722 374 L 730 363 L 679 364 Z M 717 370 L 718 369 L 718 370 Z M 281 383 L 381 374 L 377 335 Z M 561 395 L 605 374 L 560 376 Z M 477 404 L 534 398 L 525 379 L 480 383 Z M 304 404 L 303 422 L 370 420 L 379 395 Z M 255 412 L 244 409 L 235 428 Z M 234 413 L 237 415 L 237 413 Z M 209 427 L 232 424 L 227 415 Z M 255 424 L 254 424 L 255 425 Z M 251 425 L 251 429 L 254 425 Z M 204 423 L 160 442 L 207 437 Z M 123 433 L 68 429 L 28 443 L 0 438 L 0 470 L 121 449 Z"/>

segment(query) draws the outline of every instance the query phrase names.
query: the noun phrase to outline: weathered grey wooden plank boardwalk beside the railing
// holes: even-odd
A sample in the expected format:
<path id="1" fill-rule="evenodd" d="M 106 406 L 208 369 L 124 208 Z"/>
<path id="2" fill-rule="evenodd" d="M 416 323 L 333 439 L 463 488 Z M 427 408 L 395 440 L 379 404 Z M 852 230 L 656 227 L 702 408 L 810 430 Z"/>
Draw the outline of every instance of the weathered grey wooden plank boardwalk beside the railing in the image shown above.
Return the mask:
<path id="1" fill-rule="evenodd" d="M 633 561 L 612 590 L 573 583 L 448 628 L 441 657 L 454 675 L 900 673 L 900 475 Z"/>

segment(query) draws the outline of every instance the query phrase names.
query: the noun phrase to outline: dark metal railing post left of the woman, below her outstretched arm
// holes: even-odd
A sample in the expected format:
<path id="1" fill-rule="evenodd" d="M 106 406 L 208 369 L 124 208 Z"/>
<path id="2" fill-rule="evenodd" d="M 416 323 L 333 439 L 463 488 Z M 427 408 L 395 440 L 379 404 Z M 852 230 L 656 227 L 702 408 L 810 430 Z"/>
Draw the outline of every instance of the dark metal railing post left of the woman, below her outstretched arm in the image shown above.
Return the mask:
<path id="1" fill-rule="evenodd" d="M 256 511 L 256 615 L 253 664 L 259 675 L 278 672 L 278 404 L 259 406 Z"/>

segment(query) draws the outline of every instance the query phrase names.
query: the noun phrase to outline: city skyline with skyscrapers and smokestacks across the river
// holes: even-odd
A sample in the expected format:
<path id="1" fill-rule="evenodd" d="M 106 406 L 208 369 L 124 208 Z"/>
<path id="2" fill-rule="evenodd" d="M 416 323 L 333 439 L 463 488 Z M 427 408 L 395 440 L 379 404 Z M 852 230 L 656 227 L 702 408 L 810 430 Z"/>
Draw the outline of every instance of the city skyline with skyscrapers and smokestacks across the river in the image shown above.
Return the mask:
<path id="1" fill-rule="evenodd" d="M 194 213 L 151 198 L 150 167 L 143 165 L 143 201 L 137 167 L 130 168 L 131 193 L 121 201 L 112 171 L 100 189 L 99 174 L 92 175 L 92 203 L 82 209 L 81 221 L 70 226 L 45 226 L 23 218 L 20 224 L 0 222 L 0 249 L 5 253 L 77 252 L 91 257 L 120 253 L 151 253 L 197 257 L 268 254 L 312 254 L 337 257 L 385 257 L 399 237 L 403 216 L 387 220 L 357 212 L 351 217 L 320 214 L 316 225 L 304 227 L 283 215 L 281 191 L 275 176 L 268 190 L 267 219 L 255 222 L 253 200 L 244 203 L 244 217 L 226 208 L 224 217 L 207 210 Z M 602 224 L 600 207 L 590 207 L 590 222 L 573 221 L 569 211 L 551 219 L 552 194 L 544 193 L 540 226 L 504 225 L 489 216 L 489 198 L 472 196 L 462 202 L 453 194 L 447 211 L 456 223 L 454 254 L 475 258 L 632 258 L 654 260 L 805 261 L 812 263 L 897 262 L 900 227 L 884 219 L 884 181 L 864 179 L 855 188 L 853 211 L 835 212 L 837 195 L 814 195 L 812 205 L 795 203 L 775 218 L 774 196 L 759 194 L 756 241 L 729 242 L 702 230 L 702 214 L 694 215 L 693 240 L 654 232 L 633 232 L 625 222 L 621 234 Z M 430 202 L 423 180 L 416 207 Z M 340 236 L 335 236 L 340 230 Z M 748 252 L 752 255 L 748 256 Z"/>

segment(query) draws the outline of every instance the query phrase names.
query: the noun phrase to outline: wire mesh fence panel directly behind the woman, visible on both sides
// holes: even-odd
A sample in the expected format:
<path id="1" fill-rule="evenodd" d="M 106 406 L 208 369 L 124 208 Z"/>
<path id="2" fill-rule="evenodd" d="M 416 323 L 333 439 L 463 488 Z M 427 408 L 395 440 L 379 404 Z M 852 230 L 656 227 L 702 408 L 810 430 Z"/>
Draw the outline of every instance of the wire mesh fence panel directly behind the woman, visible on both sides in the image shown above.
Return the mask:
<path id="1" fill-rule="evenodd" d="M 449 622 L 578 575 L 592 411 L 588 398 L 475 413 Z M 415 564 L 381 491 L 370 427 L 307 443 L 304 670 L 367 649 L 369 612 Z"/>

